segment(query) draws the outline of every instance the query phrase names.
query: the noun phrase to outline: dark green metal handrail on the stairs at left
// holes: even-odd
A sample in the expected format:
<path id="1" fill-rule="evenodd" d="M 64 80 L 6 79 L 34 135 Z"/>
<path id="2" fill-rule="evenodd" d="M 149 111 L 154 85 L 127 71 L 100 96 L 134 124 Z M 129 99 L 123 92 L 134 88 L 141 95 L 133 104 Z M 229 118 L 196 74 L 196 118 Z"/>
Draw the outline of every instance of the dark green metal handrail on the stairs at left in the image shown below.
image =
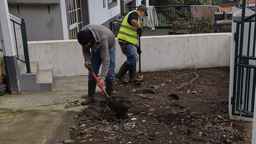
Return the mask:
<path id="1" fill-rule="evenodd" d="M 30 65 L 29 65 L 29 57 L 28 57 L 28 49 L 27 49 L 27 32 L 26 32 L 26 24 L 24 19 L 21 19 L 21 23 L 18 23 L 12 19 L 10 19 L 13 23 L 13 28 L 14 28 L 14 36 L 15 36 L 15 44 L 16 44 L 16 52 L 17 52 L 17 59 L 20 60 L 23 63 L 26 63 L 27 67 L 27 73 L 30 72 Z M 19 52 L 18 52 L 18 46 L 17 46 L 17 37 L 16 37 L 16 29 L 15 29 L 15 24 L 21 26 L 21 37 L 22 37 L 22 44 L 23 44 L 23 51 L 24 51 L 24 61 L 19 58 Z"/>

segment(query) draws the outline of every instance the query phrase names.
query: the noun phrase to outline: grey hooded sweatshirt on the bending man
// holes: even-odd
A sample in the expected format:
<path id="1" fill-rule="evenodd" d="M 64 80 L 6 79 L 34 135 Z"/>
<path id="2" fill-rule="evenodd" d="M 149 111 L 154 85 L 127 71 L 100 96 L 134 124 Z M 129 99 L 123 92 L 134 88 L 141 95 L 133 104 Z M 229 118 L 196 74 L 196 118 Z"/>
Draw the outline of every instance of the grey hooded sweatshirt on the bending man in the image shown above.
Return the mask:
<path id="1" fill-rule="evenodd" d="M 106 80 L 110 57 L 109 51 L 113 50 L 116 41 L 113 32 L 107 27 L 101 25 L 86 25 L 81 30 L 89 30 L 92 33 L 94 44 L 88 47 L 82 46 L 83 57 L 85 62 L 90 62 L 91 51 L 101 55 L 101 79 Z"/>

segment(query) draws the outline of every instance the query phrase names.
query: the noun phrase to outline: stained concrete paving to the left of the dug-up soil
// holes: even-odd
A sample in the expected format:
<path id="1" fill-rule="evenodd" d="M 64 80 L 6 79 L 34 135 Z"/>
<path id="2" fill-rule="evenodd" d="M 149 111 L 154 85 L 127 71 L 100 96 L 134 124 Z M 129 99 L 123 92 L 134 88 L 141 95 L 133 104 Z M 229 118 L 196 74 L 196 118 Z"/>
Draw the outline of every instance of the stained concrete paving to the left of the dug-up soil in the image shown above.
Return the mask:
<path id="1" fill-rule="evenodd" d="M 73 118 L 88 106 L 64 109 L 65 105 L 81 104 L 87 84 L 87 76 L 58 77 L 52 92 L 0 96 L 0 144 L 58 144 L 68 139 L 70 127 L 75 125 Z"/>

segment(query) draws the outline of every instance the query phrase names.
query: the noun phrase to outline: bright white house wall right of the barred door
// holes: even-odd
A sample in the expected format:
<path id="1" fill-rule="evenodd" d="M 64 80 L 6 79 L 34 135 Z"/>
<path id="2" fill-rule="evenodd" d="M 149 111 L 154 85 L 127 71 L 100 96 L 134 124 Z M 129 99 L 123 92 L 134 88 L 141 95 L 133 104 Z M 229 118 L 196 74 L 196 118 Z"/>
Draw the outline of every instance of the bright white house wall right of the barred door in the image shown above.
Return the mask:
<path id="1" fill-rule="evenodd" d="M 105 2 L 106 7 L 103 8 L 103 2 Z M 111 18 L 119 15 L 121 13 L 120 10 L 120 1 L 117 1 L 117 6 L 108 9 L 108 1 L 102 0 L 89 0 L 89 19 L 90 24 L 98 24 L 101 25 L 104 22 L 110 20 Z"/>

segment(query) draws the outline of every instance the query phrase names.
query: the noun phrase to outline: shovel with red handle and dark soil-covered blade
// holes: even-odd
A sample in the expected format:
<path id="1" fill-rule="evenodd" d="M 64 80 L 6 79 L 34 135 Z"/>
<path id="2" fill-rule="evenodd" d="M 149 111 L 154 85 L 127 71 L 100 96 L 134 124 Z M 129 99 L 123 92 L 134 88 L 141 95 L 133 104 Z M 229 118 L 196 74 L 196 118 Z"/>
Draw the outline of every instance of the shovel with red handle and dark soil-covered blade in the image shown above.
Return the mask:
<path id="1" fill-rule="evenodd" d="M 95 81 L 97 81 L 97 83 L 100 83 L 100 81 L 98 80 L 95 73 L 90 68 L 88 68 L 88 70 L 92 73 Z M 106 90 L 104 89 L 104 87 L 102 85 L 100 88 L 101 88 L 102 92 L 107 96 L 107 99 L 106 99 L 107 106 L 110 107 L 113 111 L 115 111 L 117 115 L 124 117 L 127 114 L 128 107 L 126 105 L 120 103 L 118 100 L 110 98 L 110 96 L 108 96 Z"/>

